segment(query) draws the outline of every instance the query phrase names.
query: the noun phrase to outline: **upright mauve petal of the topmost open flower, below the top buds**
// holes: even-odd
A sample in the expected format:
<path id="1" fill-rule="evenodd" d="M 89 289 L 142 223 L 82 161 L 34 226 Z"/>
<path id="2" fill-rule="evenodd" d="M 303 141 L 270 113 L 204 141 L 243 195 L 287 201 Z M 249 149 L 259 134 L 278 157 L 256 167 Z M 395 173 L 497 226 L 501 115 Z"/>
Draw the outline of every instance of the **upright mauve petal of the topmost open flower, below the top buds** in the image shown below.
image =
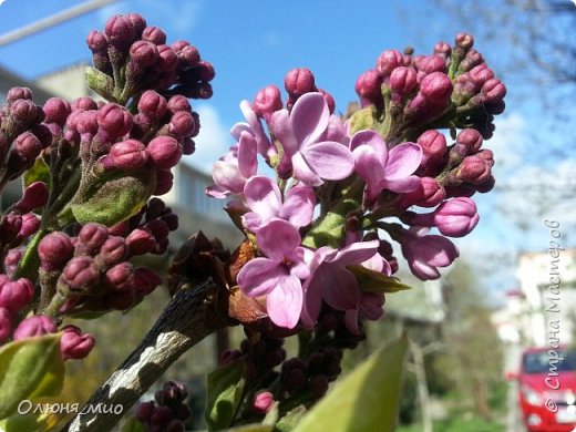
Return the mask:
<path id="1" fill-rule="evenodd" d="M 328 104 L 320 93 L 306 93 L 296 101 L 290 120 L 300 150 L 322 135 L 329 119 Z"/>

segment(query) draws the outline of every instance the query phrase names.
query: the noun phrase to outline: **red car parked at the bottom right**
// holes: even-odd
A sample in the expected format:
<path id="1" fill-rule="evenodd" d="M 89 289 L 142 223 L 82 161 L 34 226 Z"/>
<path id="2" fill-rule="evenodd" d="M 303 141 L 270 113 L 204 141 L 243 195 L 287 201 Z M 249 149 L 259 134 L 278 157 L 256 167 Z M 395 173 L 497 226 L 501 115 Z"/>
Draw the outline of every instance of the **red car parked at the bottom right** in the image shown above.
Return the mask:
<path id="1" fill-rule="evenodd" d="M 576 350 L 529 348 L 513 378 L 528 432 L 576 430 Z"/>

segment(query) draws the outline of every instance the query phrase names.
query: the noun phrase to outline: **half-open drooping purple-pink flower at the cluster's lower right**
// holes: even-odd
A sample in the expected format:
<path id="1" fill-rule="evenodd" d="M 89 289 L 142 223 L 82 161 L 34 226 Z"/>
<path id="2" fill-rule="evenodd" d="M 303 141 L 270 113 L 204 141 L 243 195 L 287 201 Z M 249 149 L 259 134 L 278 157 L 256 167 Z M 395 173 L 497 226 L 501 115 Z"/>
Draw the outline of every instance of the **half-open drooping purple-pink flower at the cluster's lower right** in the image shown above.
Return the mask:
<path id="1" fill-rule="evenodd" d="M 402 239 L 402 255 L 410 270 L 422 280 L 438 279 L 438 267 L 446 267 L 460 255 L 448 238 L 426 235 L 430 228 L 412 227 Z"/>

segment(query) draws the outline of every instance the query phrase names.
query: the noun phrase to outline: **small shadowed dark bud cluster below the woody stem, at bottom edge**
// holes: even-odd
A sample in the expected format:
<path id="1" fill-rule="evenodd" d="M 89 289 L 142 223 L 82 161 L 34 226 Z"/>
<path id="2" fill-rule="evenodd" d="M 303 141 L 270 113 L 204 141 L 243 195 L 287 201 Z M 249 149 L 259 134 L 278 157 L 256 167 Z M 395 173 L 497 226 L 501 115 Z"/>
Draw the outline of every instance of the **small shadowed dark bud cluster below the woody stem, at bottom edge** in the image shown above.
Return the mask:
<path id="1" fill-rule="evenodd" d="M 183 382 L 167 381 L 156 391 L 154 401 L 143 402 L 136 409 L 136 419 L 146 432 L 183 432 L 191 410 L 186 404 L 188 389 Z"/>

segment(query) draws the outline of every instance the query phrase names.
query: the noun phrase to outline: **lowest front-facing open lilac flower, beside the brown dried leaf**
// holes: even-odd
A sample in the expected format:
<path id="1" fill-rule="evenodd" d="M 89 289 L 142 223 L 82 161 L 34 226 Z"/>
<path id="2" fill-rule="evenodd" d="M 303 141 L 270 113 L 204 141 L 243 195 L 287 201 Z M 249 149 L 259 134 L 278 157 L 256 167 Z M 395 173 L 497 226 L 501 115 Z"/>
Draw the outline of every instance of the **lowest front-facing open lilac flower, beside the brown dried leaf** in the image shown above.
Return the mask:
<path id="1" fill-rule="evenodd" d="M 248 261 L 238 272 L 238 285 L 249 297 L 266 296 L 268 316 L 279 327 L 294 328 L 302 310 L 302 285 L 311 251 L 300 246 L 300 234 L 289 222 L 271 219 L 256 233 L 265 257 Z"/>

